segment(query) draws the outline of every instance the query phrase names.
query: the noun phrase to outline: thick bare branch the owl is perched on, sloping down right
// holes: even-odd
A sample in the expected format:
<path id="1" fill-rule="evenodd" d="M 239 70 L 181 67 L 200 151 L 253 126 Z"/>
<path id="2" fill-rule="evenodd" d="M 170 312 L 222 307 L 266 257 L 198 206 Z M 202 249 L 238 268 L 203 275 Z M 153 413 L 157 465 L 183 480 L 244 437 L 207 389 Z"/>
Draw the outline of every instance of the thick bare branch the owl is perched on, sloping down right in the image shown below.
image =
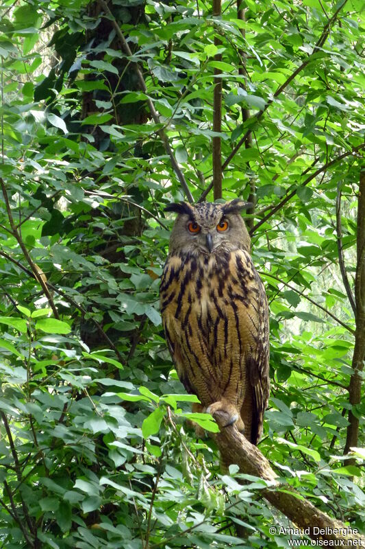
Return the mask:
<path id="1" fill-rule="evenodd" d="M 268 481 L 270 487 L 262 491 L 262 495 L 276 509 L 284 513 L 297 528 L 307 528 L 312 539 L 342 539 L 344 543 L 342 547 L 352 547 L 353 539 L 360 541 L 358 545 L 365 544 L 364 536 L 348 533 L 348 527 L 342 522 L 332 519 L 317 509 L 292 487 L 279 484 L 275 471 L 260 450 L 249 443 L 234 425 L 223 427 L 227 421 L 223 413 L 216 412 L 214 418 L 221 432 L 212 436 L 221 452 L 223 462 L 227 465 L 236 463 L 242 473 Z"/>

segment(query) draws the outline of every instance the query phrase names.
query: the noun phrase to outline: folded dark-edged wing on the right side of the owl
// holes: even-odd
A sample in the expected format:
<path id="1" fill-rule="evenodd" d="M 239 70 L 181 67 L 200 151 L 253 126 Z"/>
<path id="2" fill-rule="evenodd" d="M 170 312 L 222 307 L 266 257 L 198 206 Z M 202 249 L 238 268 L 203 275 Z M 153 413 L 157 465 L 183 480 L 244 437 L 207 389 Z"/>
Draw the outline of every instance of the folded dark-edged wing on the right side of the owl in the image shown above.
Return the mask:
<path id="1" fill-rule="evenodd" d="M 241 409 L 242 419 L 249 417 L 251 436 L 247 438 L 257 444 L 262 434 L 264 411 L 268 404 L 270 388 L 269 344 L 268 344 L 268 303 L 266 292 L 259 274 L 253 266 L 249 253 L 239 250 L 236 253 L 237 281 L 236 292 L 240 294 L 239 308 L 242 316 L 240 332 L 244 341 L 244 364 L 247 371 L 247 391 Z M 236 289 L 235 288 L 235 289 Z M 251 390 L 251 395 L 248 391 Z M 251 408 L 251 410 L 249 409 Z"/>

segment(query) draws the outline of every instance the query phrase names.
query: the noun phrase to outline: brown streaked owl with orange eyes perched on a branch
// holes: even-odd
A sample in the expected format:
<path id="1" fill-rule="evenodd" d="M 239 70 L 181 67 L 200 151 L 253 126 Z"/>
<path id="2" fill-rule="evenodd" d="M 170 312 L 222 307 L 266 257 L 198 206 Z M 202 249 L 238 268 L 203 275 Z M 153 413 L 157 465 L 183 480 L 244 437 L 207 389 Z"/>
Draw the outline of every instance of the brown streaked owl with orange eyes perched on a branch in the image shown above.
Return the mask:
<path id="1" fill-rule="evenodd" d="M 257 444 L 268 402 L 268 303 L 240 199 L 171 204 L 177 213 L 160 285 L 162 323 L 194 411 L 225 412 Z"/>

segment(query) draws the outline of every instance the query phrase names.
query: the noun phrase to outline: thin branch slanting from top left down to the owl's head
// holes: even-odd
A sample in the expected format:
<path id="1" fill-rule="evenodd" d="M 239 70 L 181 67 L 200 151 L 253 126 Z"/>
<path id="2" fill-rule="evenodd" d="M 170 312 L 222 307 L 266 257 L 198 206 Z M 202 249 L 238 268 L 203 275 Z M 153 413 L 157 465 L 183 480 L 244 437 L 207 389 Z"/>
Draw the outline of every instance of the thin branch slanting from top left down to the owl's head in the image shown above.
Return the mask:
<path id="1" fill-rule="evenodd" d="M 121 31 L 121 28 L 119 27 L 118 23 L 116 23 L 116 20 L 114 18 L 114 15 L 110 11 L 108 4 L 104 0 L 98 0 L 99 4 L 101 5 L 101 8 L 103 8 L 105 12 L 105 16 L 108 17 L 112 21 L 112 25 L 114 27 L 114 30 L 116 32 L 116 36 L 118 36 L 119 40 L 121 40 L 122 48 L 126 56 L 132 57 L 133 54 L 131 52 L 131 49 L 129 48 L 129 45 L 127 43 L 127 40 L 125 40 L 125 36 L 123 32 Z M 140 89 L 147 95 L 147 105 L 149 106 L 149 111 L 151 113 L 151 117 L 153 118 L 153 121 L 155 124 L 161 124 L 160 116 L 158 115 L 157 110 L 155 110 L 155 106 L 153 105 L 153 102 L 151 98 L 148 96 L 148 90 L 146 82 L 144 82 L 144 78 L 142 75 L 142 71 L 140 70 L 140 67 L 137 65 L 137 63 L 134 64 L 134 68 L 136 69 L 136 75 L 138 78 L 138 82 L 140 84 Z M 160 139 L 162 143 L 164 144 L 164 148 L 166 150 L 166 153 L 168 156 L 170 156 L 171 165 L 173 166 L 173 170 L 175 174 L 177 175 L 177 178 L 179 179 L 179 182 L 181 184 L 181 187 L 184 189 L 184 192 L 186 194 L 186 198 L 188 198 L 188 201 L 190 203 L 194 202 L 194 198 L 192 197 L 191 191 L 188 187 L 188 183 L 186 183 L 186 179 L 184 177 L 184 174 L 181 172 L 179 164 L 177 163 L 177 160 L 175 159 L 175 155 L 173 153 L 173 150 L 171 148 L 170 142 L 168 141 L 168 137 L 163 129 L 158 130 L 158 135 L 160 136 Z"/>

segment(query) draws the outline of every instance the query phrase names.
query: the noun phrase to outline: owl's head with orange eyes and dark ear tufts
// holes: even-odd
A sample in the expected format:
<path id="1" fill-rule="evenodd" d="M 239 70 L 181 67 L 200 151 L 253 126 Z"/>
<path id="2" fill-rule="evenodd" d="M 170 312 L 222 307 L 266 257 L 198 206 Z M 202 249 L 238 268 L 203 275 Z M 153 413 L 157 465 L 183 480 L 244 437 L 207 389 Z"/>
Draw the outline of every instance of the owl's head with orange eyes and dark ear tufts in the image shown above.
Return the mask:
<path id="1" fill-rule="evenodd" d="M 170 251 L 197 255 L 238 249 L 249 252 L 251 240 L 240 215 L 242 209 L 249 206 L 240 198 L 225 204 L 169 204 L 165 211 L 178 214 L 171 233 Z"/>

